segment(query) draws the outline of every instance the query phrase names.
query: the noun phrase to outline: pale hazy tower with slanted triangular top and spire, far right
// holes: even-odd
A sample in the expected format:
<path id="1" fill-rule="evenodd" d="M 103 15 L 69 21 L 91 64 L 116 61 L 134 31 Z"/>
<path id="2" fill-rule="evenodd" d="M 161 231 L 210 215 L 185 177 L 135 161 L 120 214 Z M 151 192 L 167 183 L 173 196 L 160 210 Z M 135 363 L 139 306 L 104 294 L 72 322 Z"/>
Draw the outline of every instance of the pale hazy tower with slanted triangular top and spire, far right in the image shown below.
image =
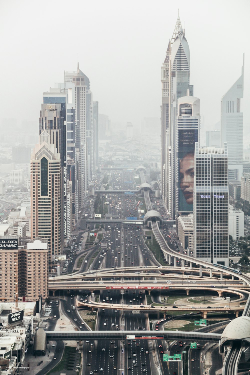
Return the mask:
<path id="1" fill-rule="evenodd" d="M 221 144 L 228 144 L 228 179 L 239 180 L 243 174 L 244 57 L 241 76 L 221 100 Z"/>

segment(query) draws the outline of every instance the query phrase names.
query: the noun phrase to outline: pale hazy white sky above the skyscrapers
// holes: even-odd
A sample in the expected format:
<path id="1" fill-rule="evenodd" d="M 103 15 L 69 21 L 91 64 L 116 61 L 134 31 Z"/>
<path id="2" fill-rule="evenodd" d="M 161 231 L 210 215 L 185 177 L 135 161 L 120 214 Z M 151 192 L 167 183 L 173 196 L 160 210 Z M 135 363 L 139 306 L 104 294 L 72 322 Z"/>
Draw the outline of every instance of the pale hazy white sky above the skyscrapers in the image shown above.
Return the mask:
<path id="1" fill-rule="evenodd" d="M 240 76 L 243 52 L 246 128 L 249 0 L 0 0 L 0 119 L 37 121 L 38 129 L 43 92 L 63 81 L 64 70 L 75 71 L 77 58 L 111 121 L 160 117 L 160 68 L 178 7 L 202 128 L 220 120 L 220 98 Z"/>

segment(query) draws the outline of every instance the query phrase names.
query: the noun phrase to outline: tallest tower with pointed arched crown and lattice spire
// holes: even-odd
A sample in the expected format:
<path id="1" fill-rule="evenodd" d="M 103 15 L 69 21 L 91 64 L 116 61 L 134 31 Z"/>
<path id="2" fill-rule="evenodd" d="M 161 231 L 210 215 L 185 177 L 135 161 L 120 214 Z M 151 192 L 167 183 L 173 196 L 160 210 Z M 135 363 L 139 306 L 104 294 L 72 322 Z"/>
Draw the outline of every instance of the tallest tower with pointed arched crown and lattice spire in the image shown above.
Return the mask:
<path id="1" fill-rule="evenodd" d="M 193 96 L 189 84 L 190 52 L 185 31 L 178 15 L 162 66 L 161 160 L 162 196 L 171 217 L 175 217 L 176 202 L 176 117 L 177 100 Z"/>

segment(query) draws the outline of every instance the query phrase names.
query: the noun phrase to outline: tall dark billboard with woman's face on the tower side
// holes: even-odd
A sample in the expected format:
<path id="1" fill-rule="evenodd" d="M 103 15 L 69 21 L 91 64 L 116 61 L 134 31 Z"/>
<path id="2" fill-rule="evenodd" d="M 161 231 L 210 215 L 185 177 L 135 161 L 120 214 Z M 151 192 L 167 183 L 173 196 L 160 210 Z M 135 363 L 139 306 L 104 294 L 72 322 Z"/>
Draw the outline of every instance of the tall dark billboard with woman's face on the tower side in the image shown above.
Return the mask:
<path id="1" fill-rule="evenodd" d="M 193 211 L 195 142 L 198 142 L 197 129 L 178 130 L 178 211 Z"/>

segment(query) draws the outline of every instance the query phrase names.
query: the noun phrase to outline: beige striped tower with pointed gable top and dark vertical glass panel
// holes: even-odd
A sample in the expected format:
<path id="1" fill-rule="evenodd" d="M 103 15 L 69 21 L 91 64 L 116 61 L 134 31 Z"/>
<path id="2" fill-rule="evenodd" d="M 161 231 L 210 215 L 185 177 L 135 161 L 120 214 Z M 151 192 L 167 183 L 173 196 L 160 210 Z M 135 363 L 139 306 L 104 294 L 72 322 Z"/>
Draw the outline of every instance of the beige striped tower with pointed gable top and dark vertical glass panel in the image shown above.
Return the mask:
<path id="1" fill-rule="evenodd" d="M 44 130 L 30 161 L 31 240 L 40 237 L 48 243 L 49 263 L 61 253 L 61 160 L 57 147 Z"/>

